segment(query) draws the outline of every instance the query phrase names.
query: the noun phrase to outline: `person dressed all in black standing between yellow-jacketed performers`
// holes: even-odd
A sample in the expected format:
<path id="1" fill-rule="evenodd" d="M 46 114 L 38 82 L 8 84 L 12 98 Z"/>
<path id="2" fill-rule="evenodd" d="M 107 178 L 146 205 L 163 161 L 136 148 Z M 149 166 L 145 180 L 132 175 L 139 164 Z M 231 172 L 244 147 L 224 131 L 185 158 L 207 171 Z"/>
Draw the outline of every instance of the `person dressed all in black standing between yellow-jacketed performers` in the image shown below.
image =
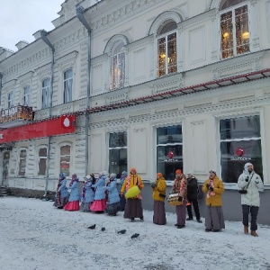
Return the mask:
<path id="1" fill-rule="evenodd" d="M 192 206 L 196 215 L 196 220 L 199 223 L 202 223 L 199 203 L 198 203 L 198 181 L 193 176 L 192 172 L 187 173 L 187 203 L 186 203 L 186 210 L 188 214 L 188 218 L 186 220 L 193 220 L 193 211 Z"/>

